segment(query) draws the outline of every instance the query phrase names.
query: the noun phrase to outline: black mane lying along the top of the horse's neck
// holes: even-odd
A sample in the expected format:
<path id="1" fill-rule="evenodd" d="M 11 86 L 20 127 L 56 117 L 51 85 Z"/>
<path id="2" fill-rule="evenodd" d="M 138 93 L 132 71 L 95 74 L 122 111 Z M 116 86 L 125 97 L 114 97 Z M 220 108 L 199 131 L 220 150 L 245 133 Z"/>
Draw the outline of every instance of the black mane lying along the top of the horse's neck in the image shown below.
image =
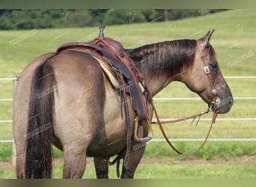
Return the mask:
<path id="1" fill-rule="evenodd" d="M 125 49 L 129 58 L 135 61 L 138 70 L 160 73 L 183 72 L 190 68 L 195 60 L 196 40 L 172 40 L 148 44 L 135 49 Z M 174 74 L 172 74 L 174 75 Z"/>

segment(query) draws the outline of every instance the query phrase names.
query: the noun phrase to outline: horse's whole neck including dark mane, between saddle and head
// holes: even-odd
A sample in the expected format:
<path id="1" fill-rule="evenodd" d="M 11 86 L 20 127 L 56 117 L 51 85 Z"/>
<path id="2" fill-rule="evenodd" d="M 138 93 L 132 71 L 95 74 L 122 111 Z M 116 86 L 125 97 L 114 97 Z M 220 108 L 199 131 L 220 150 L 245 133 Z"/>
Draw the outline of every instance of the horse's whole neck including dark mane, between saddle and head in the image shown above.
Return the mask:
<path id="1" fill-rule="evenodd" d="M 183 82 L 183 74 L 194 61 L 195 46 L 195 40 L 174 40 L 128 49 L 127 54 L 154 96 L 172 81 Z"/>

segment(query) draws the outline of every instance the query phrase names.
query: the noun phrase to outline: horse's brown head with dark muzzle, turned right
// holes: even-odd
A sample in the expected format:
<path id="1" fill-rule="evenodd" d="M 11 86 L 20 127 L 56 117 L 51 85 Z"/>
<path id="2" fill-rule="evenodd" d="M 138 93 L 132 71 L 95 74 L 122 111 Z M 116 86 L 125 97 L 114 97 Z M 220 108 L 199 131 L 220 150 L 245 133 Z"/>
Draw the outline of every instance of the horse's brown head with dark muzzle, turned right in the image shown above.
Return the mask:
<path id="1" fill-rule="evenodd" d="M 214 112 L 225 114 L 231 109 L 234 99 L 222 76 L 213 46 L 210 45 L 213 31 L 208 31 L 204 37 L 196 40 L 193 52 L 195 60 L 183 76 L 183 82 L 190 90 L 198 93 Z"/>

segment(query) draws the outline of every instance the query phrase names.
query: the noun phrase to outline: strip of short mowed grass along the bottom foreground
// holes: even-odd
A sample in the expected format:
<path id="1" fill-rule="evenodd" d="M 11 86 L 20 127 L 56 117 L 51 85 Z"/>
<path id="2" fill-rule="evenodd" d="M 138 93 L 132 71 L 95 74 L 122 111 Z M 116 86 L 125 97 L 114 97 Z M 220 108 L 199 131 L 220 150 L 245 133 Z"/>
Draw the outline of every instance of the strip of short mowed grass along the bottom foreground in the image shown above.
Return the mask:
<path id="1" fill-rule="evenodd" d="M 249 158 L 252 159 L 252 158 Z M 149 163 L 151 162 L 151 163 Z M 141 164 L 135 172 L 135 179 L 255 179 L 255 165 L 250 165 L 246 162 L 246 158 L 240 165 L 236 163 L 227 164 L 214 162 L 180 162 L 177 160 L 165 161 L 164 163 L 157 160 L 142 159 Z M 8 169 L 0 168 L 1 179 L 15 179 L 15 173 L 11 170 L 13 166 Z M 62 178 L 63 163 L 61 159 L 55 163 L 52 172 L 53 179 Z M 121 168 L 120 168 L 121 169 Z M 96 173 L 93 165 L 93 159 L 89 158 L 83 179 L 96 179 Z M 115 166 L 109 167 L 109 178 L 117 179 Z"/>

